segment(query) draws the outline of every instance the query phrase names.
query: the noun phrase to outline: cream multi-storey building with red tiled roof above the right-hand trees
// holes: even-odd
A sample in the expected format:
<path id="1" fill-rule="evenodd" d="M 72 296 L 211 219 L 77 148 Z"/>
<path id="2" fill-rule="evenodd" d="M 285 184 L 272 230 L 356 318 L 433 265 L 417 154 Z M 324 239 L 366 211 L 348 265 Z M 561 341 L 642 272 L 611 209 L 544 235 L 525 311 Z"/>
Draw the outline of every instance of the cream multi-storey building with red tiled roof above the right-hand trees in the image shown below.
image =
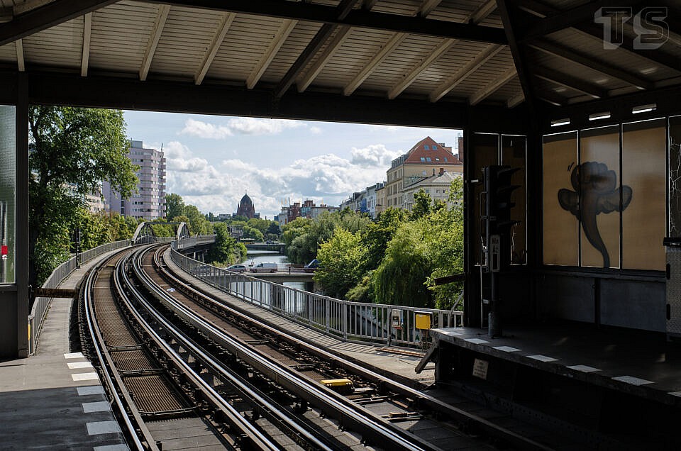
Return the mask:
<path id="1" fill-rule="evenodd" d="M 436 143 L 430 136 L 423 138 L 409 152 L 392 160 L 386 173 L 384 208 L 404 208 L 404 187 L 439 173 L 440 169 L 463 173 L 463 163 L 453 155 L 452 147 Z"/>

